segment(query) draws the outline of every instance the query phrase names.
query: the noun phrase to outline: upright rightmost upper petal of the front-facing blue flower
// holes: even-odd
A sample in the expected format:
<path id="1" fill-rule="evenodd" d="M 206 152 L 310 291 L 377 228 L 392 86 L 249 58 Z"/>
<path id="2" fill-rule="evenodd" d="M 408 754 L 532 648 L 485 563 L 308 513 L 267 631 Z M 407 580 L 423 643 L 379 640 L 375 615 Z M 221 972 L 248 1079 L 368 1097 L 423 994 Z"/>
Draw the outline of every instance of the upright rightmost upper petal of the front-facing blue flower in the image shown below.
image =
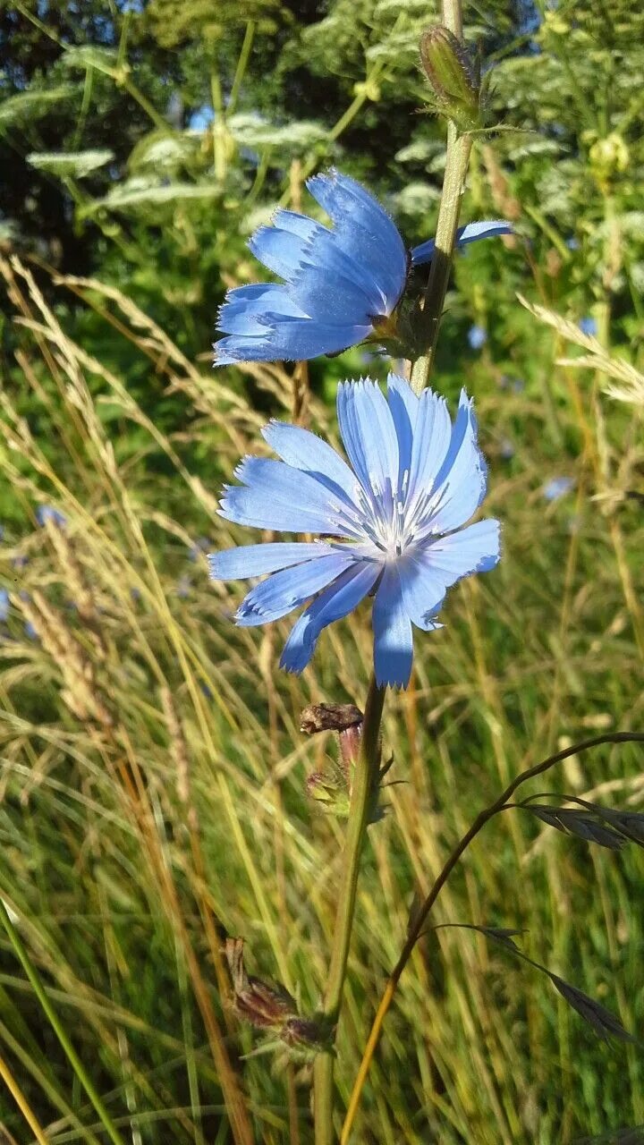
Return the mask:
<path id="1" fill-rule="evenodd" d="M 487 466 L 477 441 L 477 419 L 472 401 L 461 392 L 448 455 L 437 476 L 438 510 L 432 532 L 451 532 L 476 513 L 485 497 Z"/>

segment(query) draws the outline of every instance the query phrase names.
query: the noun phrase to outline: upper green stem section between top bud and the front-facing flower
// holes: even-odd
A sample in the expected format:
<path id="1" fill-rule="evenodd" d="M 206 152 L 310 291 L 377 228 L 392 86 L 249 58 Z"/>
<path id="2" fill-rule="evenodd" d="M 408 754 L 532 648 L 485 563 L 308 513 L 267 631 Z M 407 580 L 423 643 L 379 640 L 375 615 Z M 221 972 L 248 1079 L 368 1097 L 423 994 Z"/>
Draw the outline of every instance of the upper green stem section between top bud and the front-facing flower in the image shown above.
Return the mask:
<path id="1" fill-rule="evenodd" d="M 472 137 L 460 135 L 455 125 L 449 124 L 445 180 L 437 223 L 437 245 L 430 266 L 421 321 L 421 332 L 426 350 L 411 368 L 411 387 L 417 394 L 427 385 L 434 363 L 440 318 L 451 270 L 456 228 L 458 227 L 461 196 L 471 150 Z"/>

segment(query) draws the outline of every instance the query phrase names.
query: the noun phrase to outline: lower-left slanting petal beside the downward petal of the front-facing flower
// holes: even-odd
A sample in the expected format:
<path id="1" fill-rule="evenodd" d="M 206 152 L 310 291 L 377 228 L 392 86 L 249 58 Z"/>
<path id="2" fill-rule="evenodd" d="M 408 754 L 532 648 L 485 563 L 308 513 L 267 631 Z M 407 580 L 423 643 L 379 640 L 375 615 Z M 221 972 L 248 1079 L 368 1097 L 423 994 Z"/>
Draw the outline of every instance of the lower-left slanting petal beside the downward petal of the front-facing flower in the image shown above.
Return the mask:
<path id="1" fill-rule="evenodd" d="M 353 611 L 371 591 L 379 575 L 380 568 L 375 562 L 354 564 L 341 572 L 293 625 L 284 645 L 280 668 L 286 672 L 301 672 L 315 652 L 322 629 Z"/>

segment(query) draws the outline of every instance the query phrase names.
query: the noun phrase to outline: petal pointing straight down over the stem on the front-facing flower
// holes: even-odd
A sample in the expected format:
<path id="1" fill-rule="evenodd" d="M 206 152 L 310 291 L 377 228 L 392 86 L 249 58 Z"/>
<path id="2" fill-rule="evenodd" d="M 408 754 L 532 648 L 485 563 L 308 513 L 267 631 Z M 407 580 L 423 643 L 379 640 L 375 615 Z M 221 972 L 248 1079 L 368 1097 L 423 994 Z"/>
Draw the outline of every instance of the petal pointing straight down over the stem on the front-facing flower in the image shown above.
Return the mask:
<path id="1" fill-rule="evenodd" d="M 374 601 L 374 669 L 379 687 L 406 688 L 411 674 L 414 639 L 396 564 L 385 566 Z"/>

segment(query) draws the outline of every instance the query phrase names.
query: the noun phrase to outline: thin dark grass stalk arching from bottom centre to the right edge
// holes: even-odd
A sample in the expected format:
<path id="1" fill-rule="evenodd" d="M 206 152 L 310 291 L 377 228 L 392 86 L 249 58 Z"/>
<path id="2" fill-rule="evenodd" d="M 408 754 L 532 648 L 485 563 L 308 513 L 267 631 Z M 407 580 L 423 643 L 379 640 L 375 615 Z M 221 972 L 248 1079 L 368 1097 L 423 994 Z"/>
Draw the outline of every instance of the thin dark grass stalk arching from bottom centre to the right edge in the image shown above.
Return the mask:
<path id="1" fill-rule="evenodd" d="M 371 1061 L 374 1059 L 374 1053 L 376 1052 L 376 1047 L 380 1037 L 383 1022 L 393 1002 L 393 996 L 395 994 L 402 971 L 405 970 L 407 963 L 409 962 L 409 958 L 411 957 L 411 951 L 414 950 L 414 947 L 416 946 L 416 942 L 421 937 L 423 926 L 427 921 L 427 915 L 430 914 L 440 892 L 442 891 L 442 887 L 447 883 L 447 879 L 449 878 L 451 871 L 454 870 L 457 862 L 462 858 L 463 853 L 468 850 L 472 839 L 477 837 L 477 835 L 479 834 L 479 831 L 482 830 L 486 823 L 488 823 L 489 820 L 494 818 L 494 815 L 498 814 L 498 812 L 504 811 L 506 808 L 506 804 L 512 798 L 517 788 L 521 785 L 521 783 L 525 783 L 527 780 L 534 779 L 536 775 L 541 775 L 543 772 L 549 771 L 550 767 L 553 767 L 556 764 L 560 764 L 564 759 L 568 759 L 571 756 L 576 755 L 579 751 L 587 751 L 589 748 L 597 748 L 602 743 L 644 743 L 644 734 L 639 732 L 611 732 L 607 733 L 606 735 L 594 736 L 591 740 L 583 740 L 581 743 L 575 743 L 571 748 L 565 748 L 563 751 L 558 751 L 553 756 L 548 756 L 548 758 L 543 759 L 540 764 L 535 764 L 534 767 L 529 767 L 526 772 L 521 772 L 520 775 L 517 775 L 517 777 L 512 780 L 512 782 L 509 784 L 509 787 L 505 788 L 505 790 L 498 796 L 498 798 L 495 799 L 494 803 L 492 803 L 488 807 L 486 807 L 477 815 L 470 829 L 465 831 L 465 835 L 454 847 L 454 851 L 447 859 L 442 870 L 440 871 L 430 893 L 427 894 L 427 898 L 423 902 L 421 909 L 415 914 L 414 918 L 410 921 L 405 946 L 402 947 L 400 957 L 387 979 L 387 984 L 383 997 L 380 998 L 378 1011 L 376 1013 L 376 1017 L 374 1018 L 374 1024 L 369 1033 L 369 1039 L 364 1048 L 364 1053 L 362 1055 L 362 1061 L 360 1063 L 360 1069 L 358 1071 L 358 1076 L 355 1079 L 353 1090 L 351 1093 L 348 1108 L 340 1136 L 340 1145 L 347 1145 L 348 1143 L 350 1134 L 360 1103 L 360 1096 L 362 1093 L 362 1089 L 367 1080 L 367 1074 L 369 1072 L 369 1066 L 371 1065 Z"/>

